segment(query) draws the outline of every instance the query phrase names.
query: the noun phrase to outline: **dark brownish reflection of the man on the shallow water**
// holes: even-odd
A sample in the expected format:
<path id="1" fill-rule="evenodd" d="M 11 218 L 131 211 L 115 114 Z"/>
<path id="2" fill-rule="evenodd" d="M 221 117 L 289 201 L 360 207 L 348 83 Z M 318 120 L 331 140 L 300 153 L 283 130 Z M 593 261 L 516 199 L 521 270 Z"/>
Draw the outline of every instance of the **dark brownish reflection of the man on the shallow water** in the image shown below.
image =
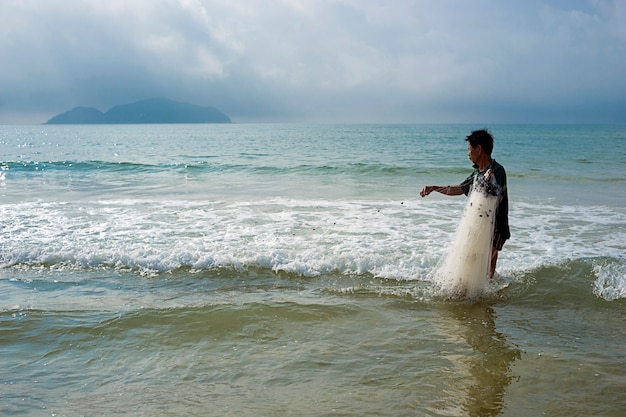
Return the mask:
<path id="1" fill-rule="evenodd" d="M 496 330 L 495 313 L 489 304 L 446 304 L 441 313 L 454 319 L 446 320 L 448 336 L 462 339 L 472 348 L 469 353 L 453 357 L 460 368 L 460 380 L 467 380 L 467 386 L 456 390 L 466 393 L 464 400 L 459 399 L 464 411 L 472 417 L 499 415 L 506 388 L 515 378 L 511 366 L 520 359 L 520 350 Z"/>

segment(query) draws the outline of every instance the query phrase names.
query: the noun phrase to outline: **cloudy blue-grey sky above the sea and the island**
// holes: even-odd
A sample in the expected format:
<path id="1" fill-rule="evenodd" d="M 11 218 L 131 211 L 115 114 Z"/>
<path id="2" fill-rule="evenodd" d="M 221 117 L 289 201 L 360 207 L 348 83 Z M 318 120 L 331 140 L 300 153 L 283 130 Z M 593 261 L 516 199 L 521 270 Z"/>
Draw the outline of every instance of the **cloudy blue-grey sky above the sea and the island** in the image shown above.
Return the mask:
<path id="1" fill-rule="evenodd" d="M 626 0 L 0 0 L 0 123 L 626 123 Z"/>

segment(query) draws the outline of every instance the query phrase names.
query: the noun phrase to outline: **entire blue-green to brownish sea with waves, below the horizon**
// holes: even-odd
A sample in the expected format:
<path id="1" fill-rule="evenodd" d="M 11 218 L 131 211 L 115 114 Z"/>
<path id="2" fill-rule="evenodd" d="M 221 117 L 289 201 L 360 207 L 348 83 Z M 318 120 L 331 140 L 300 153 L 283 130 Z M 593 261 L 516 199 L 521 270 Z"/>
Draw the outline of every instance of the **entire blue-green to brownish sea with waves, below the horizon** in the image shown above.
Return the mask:
<path id="1" fill-rule="evenodd" d="M 512 238 L 439 293 L 471 125 L 0 127 L 0 415 L 621 416 L 626 126 L 494 125 Z"/>

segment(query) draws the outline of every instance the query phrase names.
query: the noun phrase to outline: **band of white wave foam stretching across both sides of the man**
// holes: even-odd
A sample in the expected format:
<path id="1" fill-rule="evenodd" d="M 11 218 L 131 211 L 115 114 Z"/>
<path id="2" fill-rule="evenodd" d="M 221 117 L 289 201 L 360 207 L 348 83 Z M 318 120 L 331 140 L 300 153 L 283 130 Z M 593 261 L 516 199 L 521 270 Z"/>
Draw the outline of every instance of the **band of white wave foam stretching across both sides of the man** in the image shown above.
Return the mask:
<path id="1" fill-rule="evenodd" d="M 148 274 L 259 267 L 303 276 L 429 281 L 464 204 L 445 197 L 0 204 L 0 267 Z M 512 238 L 498 260 L 506 276 L 569 259 L 623 260 L 626 253 L 622 208 L 512 202 L 510 218 Z"/>

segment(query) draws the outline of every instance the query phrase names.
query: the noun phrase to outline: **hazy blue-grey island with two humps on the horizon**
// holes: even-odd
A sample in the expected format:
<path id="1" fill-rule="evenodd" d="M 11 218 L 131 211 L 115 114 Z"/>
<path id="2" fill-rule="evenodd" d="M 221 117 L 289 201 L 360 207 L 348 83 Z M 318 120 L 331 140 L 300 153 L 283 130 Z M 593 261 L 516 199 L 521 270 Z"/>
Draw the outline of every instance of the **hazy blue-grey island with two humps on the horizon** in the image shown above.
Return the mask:
<path id="1" fill-rule="evenodd" d="M 180 103 L 167 98 L 151 98 L 120 104 L 102 113 L 93 107 L 76 107 L 45 124 L 133 124 L 133 123 L 231 123 L 214 107 Z"/>

